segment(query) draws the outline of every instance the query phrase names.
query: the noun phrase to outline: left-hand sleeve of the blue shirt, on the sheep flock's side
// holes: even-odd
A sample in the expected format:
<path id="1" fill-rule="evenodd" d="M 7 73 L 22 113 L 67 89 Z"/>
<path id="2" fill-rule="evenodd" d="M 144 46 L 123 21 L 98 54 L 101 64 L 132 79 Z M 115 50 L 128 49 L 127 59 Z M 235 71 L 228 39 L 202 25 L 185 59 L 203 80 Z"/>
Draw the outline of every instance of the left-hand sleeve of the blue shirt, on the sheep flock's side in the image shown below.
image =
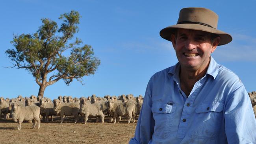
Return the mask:
<path id="1" fill-rule="evenodd" d="M 135 129 L 134 138 L 130 139 L 129 144 L 148 144 L 152 139 L 155 121 L 151 113 L 152 105 L 152 78 L 148 82 L 143 105 L 139 114 L 139 119 Z"/>

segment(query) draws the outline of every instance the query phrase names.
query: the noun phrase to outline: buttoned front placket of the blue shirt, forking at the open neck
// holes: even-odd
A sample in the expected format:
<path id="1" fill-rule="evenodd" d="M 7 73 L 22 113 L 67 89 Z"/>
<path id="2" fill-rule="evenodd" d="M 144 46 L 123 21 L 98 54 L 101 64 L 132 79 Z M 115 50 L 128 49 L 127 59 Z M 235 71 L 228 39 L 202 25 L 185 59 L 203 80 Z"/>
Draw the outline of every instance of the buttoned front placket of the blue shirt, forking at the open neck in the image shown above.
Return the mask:
<path id="1" fill-rule="evenodd" d="M 183 105 L 183 109 L 182 109 L 182 115 L 180 118 L 180 124 L 178 126 L 178 131 L 177 131 L 177 135 L 176 138 L 184 138 L 186 135 L 186 130 L 187 130 L 187 125 L 189 122 L 189 116 L 191 114 L 191 110 L 193 107 L 193 103 L 195 101 L 195 98 L 198 95 L 198 92 L 200 91 L 200 87 L 202 86 L 202 84 L 205 82 L 205 76 L 201 79 L 199 79 L 193 89 L 191 90 L 190 95 L 187 97 L 186 94 L 180 89 L 180 84 L 176 83 L 178 85 L 178 89 L 180 91 L 181 96 L 184 98 L 184 105 Z"/>

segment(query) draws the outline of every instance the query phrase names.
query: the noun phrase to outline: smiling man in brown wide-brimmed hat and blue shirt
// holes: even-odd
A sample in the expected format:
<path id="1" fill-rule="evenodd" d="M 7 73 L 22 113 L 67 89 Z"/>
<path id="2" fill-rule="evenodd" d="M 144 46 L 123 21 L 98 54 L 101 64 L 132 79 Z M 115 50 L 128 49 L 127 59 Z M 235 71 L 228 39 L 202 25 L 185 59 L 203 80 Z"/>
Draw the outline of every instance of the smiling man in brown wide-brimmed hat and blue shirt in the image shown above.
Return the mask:
<path id="1" fill-rule="evenodd" d="M 178 63 L 148 82 L 130 144 L 252 144 L 256 120 L 238 76 L 211 53 L 232 37 L 217 30 L 210 9 L 180 11 L 178 23 L 160 31 L 171 41 Z"/>

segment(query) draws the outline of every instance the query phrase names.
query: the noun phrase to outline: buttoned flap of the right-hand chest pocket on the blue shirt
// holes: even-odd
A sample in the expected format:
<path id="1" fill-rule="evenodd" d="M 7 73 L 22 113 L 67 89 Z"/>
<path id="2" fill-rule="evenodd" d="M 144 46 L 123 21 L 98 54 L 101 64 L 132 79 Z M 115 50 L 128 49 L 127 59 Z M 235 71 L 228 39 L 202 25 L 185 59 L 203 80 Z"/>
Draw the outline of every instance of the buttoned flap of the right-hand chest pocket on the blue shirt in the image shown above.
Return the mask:
<path id="1" fill-rule="evenodd" d="M 196 113 L 208 113 L 209 111 L 221 112 L 223 111 L 224 103 L 214 102 L 214 103 L 204 103 L 198 105 Z"/>

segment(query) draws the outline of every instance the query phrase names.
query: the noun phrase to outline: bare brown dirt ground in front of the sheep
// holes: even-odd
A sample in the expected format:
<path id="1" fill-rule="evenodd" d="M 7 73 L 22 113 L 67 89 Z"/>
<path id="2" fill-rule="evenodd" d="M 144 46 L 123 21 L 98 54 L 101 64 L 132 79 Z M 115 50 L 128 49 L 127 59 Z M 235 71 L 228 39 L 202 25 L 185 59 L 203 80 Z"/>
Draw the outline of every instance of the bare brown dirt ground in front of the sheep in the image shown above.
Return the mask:
<path id="1" fill-rule="evenodd" d="M 23 122 L 18 131 L 17 123 L 1 116 L 0 144 L 128 144 L 136 124 L 137 120 L 127 124 L 125 118 L 117 124 L 110 122 L 110 118 L 105 118 L 104 124 L 96 123 L 95 118 L 89 118 L 87 124 L 81 119 L 74 124 L 72 117 L 66 117 L 60 124 L 59 117 L 54 117 L 54 122 L 41 120 L 40 129 L 31 129 L 32 124 Z"/>

